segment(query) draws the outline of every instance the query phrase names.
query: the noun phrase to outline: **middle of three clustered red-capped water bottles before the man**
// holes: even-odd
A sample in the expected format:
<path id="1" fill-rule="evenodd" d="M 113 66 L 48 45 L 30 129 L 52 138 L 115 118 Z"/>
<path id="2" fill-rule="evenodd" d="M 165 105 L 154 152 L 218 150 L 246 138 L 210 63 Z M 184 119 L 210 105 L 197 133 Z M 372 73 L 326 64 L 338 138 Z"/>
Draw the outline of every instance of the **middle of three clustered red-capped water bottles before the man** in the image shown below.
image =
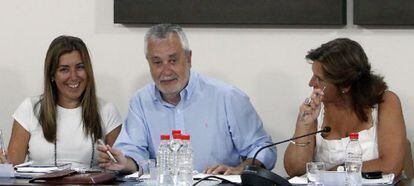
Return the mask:
<path id="1" fill-rule="evenodd" d="M 174 185 L 178 185 L 178 169 L 179 169 L 179 160 L 180 160 L 180 154 L 178 151 L 180 151 L 182 146 L 181 143 L 181 131 L 180 133 L 174 133 L 173 131 L 173 139 L 170 141 L 170 150 L 171 150 L 171 156 L 170 156 L 170 170 L 171 175 L 173 178 Z"/>

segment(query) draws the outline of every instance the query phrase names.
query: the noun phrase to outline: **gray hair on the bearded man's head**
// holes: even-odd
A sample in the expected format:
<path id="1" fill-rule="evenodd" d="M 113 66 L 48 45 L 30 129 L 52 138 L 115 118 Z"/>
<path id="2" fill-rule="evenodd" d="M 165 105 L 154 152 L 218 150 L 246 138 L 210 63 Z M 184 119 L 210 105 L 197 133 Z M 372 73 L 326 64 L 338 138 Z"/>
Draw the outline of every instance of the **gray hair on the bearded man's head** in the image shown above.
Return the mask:
<path id="1" fill-rule="evenodd" d="M 151 27 L 147 33 L 145 34 L 144 39 L 144 52 L 145 56 L 148 54 L 148 41 L 150 39 L 156 40 L 156 39 L 165 39 L 170 34 L 177 34 L 180 38 L 181 45 L 186 53 L 189 53 L 190 50 L 190 44 L 188 44 L 187 36 L 185 36 L 185 33 L 180 25 L 177 24 L 158 24 L 153 27 Z"/>

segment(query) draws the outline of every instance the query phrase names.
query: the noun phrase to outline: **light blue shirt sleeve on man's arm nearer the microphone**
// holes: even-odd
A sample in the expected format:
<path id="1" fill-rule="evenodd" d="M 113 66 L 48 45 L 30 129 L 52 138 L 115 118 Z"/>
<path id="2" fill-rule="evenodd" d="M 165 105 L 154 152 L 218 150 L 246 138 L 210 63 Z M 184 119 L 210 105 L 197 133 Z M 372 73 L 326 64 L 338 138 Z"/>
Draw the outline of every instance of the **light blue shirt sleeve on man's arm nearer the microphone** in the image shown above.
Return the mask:
<path id="1" fill-rule="evenodd" d="M 233 87 L 225 99 L 230 133 L 240 156 L 253 158 L 263 146 L 272 143 L 272 138 L 263 128 L 262 120 L 253 108 L 249 97 Z M 266 169 L 273 169 L 276 162 L 276 147 L 262 150 L 256 157 Z"/>

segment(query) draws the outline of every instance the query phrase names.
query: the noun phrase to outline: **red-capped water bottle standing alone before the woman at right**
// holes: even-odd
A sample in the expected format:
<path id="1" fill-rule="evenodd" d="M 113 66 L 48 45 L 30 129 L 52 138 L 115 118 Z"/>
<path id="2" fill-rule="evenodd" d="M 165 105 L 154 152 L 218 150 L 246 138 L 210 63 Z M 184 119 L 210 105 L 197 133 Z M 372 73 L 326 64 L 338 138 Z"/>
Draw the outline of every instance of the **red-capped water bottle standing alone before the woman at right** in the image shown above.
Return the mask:
<path id="1" fill-rule="evenodd" d="M 358 141 L 358 133 L 349 135 L 349 143 L 346 146 L 345 170 L 347 173 L 348 186 L 362 185 L 362 148 Z"/>

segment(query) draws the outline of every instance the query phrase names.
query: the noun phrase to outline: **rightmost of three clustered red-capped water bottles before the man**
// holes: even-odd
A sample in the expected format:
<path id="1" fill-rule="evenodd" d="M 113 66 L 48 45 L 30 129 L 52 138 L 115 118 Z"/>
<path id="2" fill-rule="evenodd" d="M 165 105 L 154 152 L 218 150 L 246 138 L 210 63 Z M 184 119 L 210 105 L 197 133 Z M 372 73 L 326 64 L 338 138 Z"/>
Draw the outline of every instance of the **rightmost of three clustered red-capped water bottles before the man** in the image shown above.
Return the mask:
<path id="1" fill-rule="evenodd" d="M 183 146 L 179 152 L 178 185 L 191 186 L 193 184 L 193 149 L 190 145 L 190 135 L 181 135 Z"/>

